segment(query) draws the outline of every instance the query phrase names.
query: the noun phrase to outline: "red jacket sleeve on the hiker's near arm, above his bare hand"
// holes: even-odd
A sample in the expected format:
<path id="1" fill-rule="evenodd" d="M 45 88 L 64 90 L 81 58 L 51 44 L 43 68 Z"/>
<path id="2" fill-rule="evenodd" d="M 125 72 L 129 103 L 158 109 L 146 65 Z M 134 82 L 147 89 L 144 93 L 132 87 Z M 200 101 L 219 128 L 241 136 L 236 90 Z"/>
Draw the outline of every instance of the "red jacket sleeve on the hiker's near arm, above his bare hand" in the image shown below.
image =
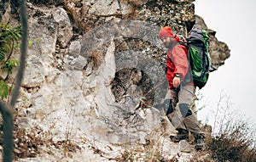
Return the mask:
<path id="1" fill-rule="evenodd" d="M 189 70 L 189 62 L 187 58 L 187 49 L 182 45 L 177 45 L 172 49 L 172 62 L 175 65 L 174 73 L 181 75 L 181 79 L 185 77 Z"/>

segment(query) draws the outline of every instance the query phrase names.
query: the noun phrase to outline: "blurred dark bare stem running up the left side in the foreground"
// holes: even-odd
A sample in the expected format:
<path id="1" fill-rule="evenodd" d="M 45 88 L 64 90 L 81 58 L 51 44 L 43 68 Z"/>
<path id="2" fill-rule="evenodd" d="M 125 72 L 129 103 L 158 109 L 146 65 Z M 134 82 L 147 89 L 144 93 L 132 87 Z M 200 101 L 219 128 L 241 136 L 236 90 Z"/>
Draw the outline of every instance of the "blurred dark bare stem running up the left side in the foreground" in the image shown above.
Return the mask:
<path id="1" fill-rule="evenodd" d="M 17 98 L 19 97 L 20 92 L 20 84 L 24 75 L 25 71 L 25 63 L 26 63 L 26 50 L 27 50 L 27 18 L 26 18 L 26 3 L 25 0 L 20 1 L 20 15 L 21 15 L 21 24 L 22 24 L 22 36 L 21 36 L 21 48 L 20 48 L 20 64 L 19 64 L 19 70 L 18 74 L 16 76 L 15 81 L 15 87 L 11 94 L 10 102 L 9 104 L 3 103 L 0 100 L 0 112 L 3 116 L 3 161 L 5 162 L 11 162 L 13 161 L 13 148 L 14 148 L 14 142 L 13 142 L 13 129 L 14 129 L 14 120 L 13 120 L 13 110 L 15 109 L 15 103 L 17 101 Z M 18 30 L 21 33 L 21 30 Z M 7 33 L 12 33 L 9 31 L 5 31 Z M 1 33 L 5 33 L 1 32 Z M 11 35 L 12 35 L 11 34 Z M 8 37 L 1 34 L 1 36 L 5 37 L 6 40 L 8 40 Z M 14 37 L 10 36 L 9 41 L 15 41 L 17 36 L 19 35 L 13 35 Z M 1 47 L 4 49 L 4 44 L 8 42 L 4 42 L 1 40 Z M 14 43 L 13 43 L 14 44 Z M 8 46 L 5 46 L 8 47 Z M 12 52 L 11 52 L 12 53 Z M 5 55 L 4 55 L 5 57 Z M 9 59 L 9 57 L 7 58 Z M 3 59 L 2 59 L 3 60 Z"/>

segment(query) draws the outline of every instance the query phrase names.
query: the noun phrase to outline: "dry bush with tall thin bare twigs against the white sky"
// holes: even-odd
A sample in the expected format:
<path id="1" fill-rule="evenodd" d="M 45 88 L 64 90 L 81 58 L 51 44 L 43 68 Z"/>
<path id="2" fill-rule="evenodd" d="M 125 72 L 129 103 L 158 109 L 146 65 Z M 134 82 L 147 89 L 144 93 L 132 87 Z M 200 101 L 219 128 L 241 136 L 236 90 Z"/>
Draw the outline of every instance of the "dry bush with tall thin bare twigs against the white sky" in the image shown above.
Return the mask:
<path id="1" fill-rule="evenodd" d="M 230 162 L 256 161 L 255 127 L 250 126 L 244 116 L 236 116 L 237 111 L 230 112 L 227 96 L 221 95 L 215 114 L 214 134 L 207 143 L 212 159 Z"/>

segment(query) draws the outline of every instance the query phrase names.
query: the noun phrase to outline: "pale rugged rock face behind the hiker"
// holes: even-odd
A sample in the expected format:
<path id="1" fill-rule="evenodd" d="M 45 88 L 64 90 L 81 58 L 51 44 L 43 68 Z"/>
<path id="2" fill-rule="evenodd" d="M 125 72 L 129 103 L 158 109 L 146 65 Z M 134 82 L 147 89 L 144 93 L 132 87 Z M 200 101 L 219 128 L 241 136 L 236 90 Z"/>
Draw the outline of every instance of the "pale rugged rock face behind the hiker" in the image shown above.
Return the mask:
<path id="1" fill-rule="evenodd" d="M 1 19 L 4 14 L 15 24 L 0 3 Z M 33 43 L 17 120 L 27 131 L 50 132 L 55 141 L 86 138 L 106 149 L 102 143 L 146 143 L 154 133 L 173 131 L 161 122 L 166 49 L 158 31 L 164 25 L 183 36 L 195 26 L 207 30 L 216 68 L 230 57 L 189 0 L 29 0 L 27 11 Z M 177 148 L 165 143 L 166 150 Z M 173 150 L 167 159 L 179 151 Z"/>

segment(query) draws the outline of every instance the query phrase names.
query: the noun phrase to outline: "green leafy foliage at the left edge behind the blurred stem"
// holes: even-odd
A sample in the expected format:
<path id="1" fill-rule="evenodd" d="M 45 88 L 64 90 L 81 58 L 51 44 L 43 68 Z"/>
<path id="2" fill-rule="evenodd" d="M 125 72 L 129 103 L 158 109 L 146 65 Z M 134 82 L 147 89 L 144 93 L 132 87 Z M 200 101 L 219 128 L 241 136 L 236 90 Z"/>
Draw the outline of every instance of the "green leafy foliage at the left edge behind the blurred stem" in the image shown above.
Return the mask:
<path id="1" fill-rule="evenodd" d="M 7 72 L 5 78 L 0 78 L 0 96 L 2 99 L 8 97 L 10 90 L 9 85 L 5 81 L 8 79 L 9 73 L 12 73 L 12 70 L 20 62 L 19 60 L 10 58 L 15 48 L 20 47 L 21 33 L 21 25 L 12 27 L 5 23 L 0 24 L 0 67 L 1 72 Z"/>

